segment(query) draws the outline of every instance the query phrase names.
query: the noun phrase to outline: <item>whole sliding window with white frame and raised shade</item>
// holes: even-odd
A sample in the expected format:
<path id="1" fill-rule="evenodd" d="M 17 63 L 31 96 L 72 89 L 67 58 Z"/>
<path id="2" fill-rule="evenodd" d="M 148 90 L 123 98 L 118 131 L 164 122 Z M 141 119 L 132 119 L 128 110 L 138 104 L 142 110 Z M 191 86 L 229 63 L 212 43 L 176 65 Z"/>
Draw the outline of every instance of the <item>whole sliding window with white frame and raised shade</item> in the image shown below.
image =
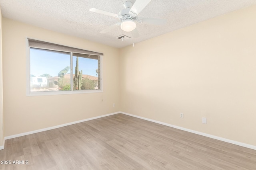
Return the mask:
<path id="1" fill-rule="evenodd" d="M 28 96 L 102 92 L 102 53 L 27 40 Z"/>

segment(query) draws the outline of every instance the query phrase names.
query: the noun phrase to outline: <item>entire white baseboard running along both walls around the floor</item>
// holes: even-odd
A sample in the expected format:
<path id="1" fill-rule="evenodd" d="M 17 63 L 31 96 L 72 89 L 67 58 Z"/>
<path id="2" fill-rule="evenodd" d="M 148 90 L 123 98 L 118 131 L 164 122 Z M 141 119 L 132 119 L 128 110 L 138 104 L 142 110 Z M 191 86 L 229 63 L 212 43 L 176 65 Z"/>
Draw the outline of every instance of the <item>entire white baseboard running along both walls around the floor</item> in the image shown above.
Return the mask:
<path id="1" fill-rule="evenodd" d="M 249 148 L 249 149 L 256 150 L 256 146 L 254 146 L 254 145 L 249 145 L 249 144 L 246 144 L 246 143 L 241 143 L 241 142 L 238 142 L 238 141 L 233 141 L 233 140 L 230 140 L 230 139 L 226 139 L 226 138 L 210 135 L 210 134 L 207 134 L 207 133 L 202 133 L 202 132 L 199 132 L 199 131 L 194 131 L 194 130 L 191 130 L 191 129 L 186 129 L 184 127 L 180 127 L 180 126 L 176 126 L 176 125 L 171 125 L 171 124 L 164 123 L 164 122 L 161 122 L 161 121 L 156 121 L 156 120 L 153 120 L 153 119 L 148 119 L 146 117 L 132 115 L 130 113 L 125 113 L 125 112 L 122 112 L 122 111 L 118 111 L 118 112 L 110 113 L 110 114 L 106 114 L 106 115 L 101 115 L 101 116 L 96 116 L 96 117 L 92 117 L 92 118 L 88 118 L 88 119 L 83 119 L 83 120 L 79 120 L 79 121 L 74 121 L 74 122 L 70 122 L 70 123 L 65 123 L 65 124 L 62 124 L 62 125 L 47 127 L 47 128 L 44 128 L 44 129 L 38 129 L 38 130 L 35 130 L 35 131 L 26 132 L 26 133 L 20 133 L 20 134 L 17 134 L 17 135 L 7 136 L 7 137 L 4 137 L 3 145 L 0 146 L 0 150 L 4 149 L 4 142 L 7 139 L 12 139 L 12 138 L 15 138 L 15 137 L 21 137 L 21 136 L 25 136 L 25 135 L 30 135 L 30 134 L 38 133 L 38 132 L 42 132 L 42 131 L 48 131 L 48 130 L 51 130 L 51 129 L 56 129 L 56 128 L 59 128 L 59 127 L 73 125 L 73 124 L 76 124 L 76 123 L 81 123 L 81 122 L 84 122 L 84 121 L 98 119 L 98 118 L 106 117 L 106 116 L 110 116 L 110 115 L 115 115 L 115 114 L 118 114 L 118 113 L 122 113 L 124 115 L 129 115 L 129 116 L 132 116 L 132 117 L 137 117 L 139 119 L 144 119 L 144 120 L 147 120 L 147 121 L 152 121 L 154 123 L 158 123 L 158 124 L 161 124 L 161 125 L 166 125 L 166 126 L 169 126 L 169 127 L 173 127 L 175 129 L 180 129 L 180 130 L 183 130 L 183 131 L 195 133 L 195 134 L 202 135 L 202 136 L 205 136 L 205 137 L 210 137 L 212 139 L 217 139 L 219 141 L 224 141 L 224 142 L 231 143 L 231 144 L 234 144 L 234 145 L 238 145 L 238 146 L 242 146 L 242 147 L 246 147 L 246 148 Z"/>

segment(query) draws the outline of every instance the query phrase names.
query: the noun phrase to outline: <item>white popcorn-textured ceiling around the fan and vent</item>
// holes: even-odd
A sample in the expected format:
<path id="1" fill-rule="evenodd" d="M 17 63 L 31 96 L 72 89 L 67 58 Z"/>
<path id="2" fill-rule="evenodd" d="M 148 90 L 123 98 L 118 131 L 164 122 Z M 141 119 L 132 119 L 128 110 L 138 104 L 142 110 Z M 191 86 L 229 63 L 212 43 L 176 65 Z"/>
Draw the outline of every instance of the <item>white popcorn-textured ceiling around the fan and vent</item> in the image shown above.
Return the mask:
<path id="1" fill-rule="evenodd" d="M 117 23 L 111 16 L 90 12 L 90 8 L 118 14 L 125 0 L 0 0 L 2 16 L 45 29 L 58 31 L 122 48 L 188 25 L 256 4 L 256 0 L 151 0 L 140 12 L 142 18 L 164 18 L 165 26 L 138 24 L 138 38 L 124 41 L 118 35 L 132 37 L 120 27 L 101 34 Z M 135 0 L 131 0 L 135 1 Z"/>

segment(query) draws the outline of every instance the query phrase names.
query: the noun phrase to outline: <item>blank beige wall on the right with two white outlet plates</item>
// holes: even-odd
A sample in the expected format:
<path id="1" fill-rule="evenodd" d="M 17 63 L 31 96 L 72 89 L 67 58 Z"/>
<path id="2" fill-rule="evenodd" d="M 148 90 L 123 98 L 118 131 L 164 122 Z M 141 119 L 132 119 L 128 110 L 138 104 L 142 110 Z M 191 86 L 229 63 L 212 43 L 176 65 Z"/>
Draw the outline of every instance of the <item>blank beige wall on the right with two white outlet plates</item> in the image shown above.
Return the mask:
<path id="1" fill-rule="evenodd" d="M 255 18 L 252 6 L 121 49 L 122 111 L 256 145 Z"/>

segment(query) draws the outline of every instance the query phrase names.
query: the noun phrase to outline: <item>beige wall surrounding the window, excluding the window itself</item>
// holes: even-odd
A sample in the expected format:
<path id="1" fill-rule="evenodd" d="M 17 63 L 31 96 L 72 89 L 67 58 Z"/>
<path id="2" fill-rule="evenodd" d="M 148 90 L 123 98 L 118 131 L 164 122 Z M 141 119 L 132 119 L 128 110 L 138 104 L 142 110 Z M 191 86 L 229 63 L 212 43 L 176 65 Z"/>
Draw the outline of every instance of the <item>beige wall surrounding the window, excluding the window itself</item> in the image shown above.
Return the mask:
<path id="1" fill-rule="evenodd" d="M 2 22 L 5 136 L 120 111 L 118 49 L 6 18 Z M 26 37 L 104 53 L 103 93 L 26 96 Z"/>

